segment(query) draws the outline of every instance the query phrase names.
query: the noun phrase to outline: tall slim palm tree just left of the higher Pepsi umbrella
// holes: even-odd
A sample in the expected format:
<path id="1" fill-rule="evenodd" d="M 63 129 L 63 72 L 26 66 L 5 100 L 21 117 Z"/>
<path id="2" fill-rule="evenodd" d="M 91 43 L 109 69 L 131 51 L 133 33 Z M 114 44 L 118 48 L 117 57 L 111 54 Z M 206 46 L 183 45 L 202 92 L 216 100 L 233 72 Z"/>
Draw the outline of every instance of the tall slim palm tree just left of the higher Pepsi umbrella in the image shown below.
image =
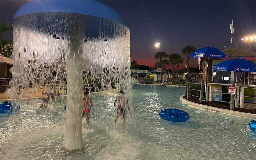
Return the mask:
<path id="1" fill-rule="evenodd" d="M 183 55 L 187 55 L 187 63 L 188 63 L 188 73 L 187 73 L 187 89 L 185 90 L 185 95 L 187 94 L 187 99 L 189 98 L 189 63 L 190 63 L 190 54 L 196 50 L 195 47 L 188 45 L 184 47 L 181 51 Z"/>

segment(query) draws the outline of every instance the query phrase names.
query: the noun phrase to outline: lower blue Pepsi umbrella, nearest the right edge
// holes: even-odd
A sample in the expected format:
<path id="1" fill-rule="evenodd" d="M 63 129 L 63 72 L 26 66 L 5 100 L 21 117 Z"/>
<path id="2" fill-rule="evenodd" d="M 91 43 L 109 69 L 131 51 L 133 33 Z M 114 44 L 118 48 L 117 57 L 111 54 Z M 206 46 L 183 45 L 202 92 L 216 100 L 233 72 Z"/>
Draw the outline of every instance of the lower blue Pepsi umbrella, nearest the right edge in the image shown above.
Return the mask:
<path id="1" fill-rule="evenodd" d="M 256 72 L 256 63 L 238 57 L 226 60 L 213 67 L 216 71 Z"/>

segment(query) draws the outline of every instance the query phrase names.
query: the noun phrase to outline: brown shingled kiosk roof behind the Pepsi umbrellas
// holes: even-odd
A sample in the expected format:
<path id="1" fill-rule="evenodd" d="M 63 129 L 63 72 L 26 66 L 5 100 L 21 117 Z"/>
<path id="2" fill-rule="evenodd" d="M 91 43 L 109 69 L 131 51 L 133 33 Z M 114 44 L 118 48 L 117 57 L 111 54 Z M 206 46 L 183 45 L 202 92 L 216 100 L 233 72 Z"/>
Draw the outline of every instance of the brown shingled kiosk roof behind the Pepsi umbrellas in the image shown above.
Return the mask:
<path id="1" fill-rule="evenodd" d="M 228 57 L 256 57 L 256 52 L 239 48 L 227 48 L 221 51 L 225 53 Z"/>

